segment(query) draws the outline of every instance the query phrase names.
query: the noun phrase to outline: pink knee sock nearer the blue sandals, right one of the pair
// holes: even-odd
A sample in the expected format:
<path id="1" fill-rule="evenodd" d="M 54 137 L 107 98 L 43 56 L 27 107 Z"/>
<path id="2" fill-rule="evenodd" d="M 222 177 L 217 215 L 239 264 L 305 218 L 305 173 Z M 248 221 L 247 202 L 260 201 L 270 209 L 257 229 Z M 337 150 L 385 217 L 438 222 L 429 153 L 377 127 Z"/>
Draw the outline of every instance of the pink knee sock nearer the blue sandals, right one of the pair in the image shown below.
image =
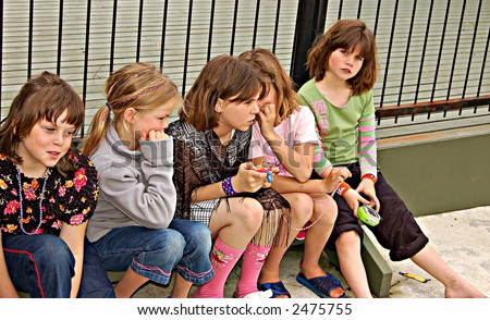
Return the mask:
<path id="1" fill-rule="evenodd" d="M 242 274 L 236 285 L 236 295 L 242 298 L 245 295 L 257 292 L 257 280 L 262 269 L 270 247 L 260 247 L 248 244 L 243 254 Z"/>

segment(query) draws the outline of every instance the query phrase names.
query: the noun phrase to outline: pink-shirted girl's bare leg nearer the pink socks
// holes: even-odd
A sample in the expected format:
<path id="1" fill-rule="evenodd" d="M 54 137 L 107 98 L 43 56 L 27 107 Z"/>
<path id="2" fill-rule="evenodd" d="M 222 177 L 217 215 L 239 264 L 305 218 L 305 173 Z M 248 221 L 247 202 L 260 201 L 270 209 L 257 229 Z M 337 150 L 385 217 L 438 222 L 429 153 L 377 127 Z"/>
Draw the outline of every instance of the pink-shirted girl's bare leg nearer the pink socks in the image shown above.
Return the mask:
<path id="1" fill-rule="evenodd" d="M 283 194 L 282 195 L 291 205 L 291 210 L 293 213 L 291 224 L 295 229 L 299 229 L 310 219 L 313 212 L 313 201 L 311 197 L 307 194 L 292 193 L 292 194 Z M 285 224 L 284 221 L 282 223 Z M 283 225 L 282 230 L 284 233 L 282 234 L 285 237 L 286 231 L 290 226 Z M 284 257 L 284 254 L 287 251 L 287 248 L 293 243 L 296 237 L 298 231 L 294 229 L 290 229 L 290 237 L 287 238 L 287 245 L 280 245 L 271 248 L 269 255 L 267 256 L 266 262 L 262 266 L 262 270 L 260 271 L 259 283 L 270 283 L 278 282 L 280 280 L 279 269 L 281 264 L 281 260 Z M 278 296 L 278 298 L 287 298 L 286 295 Z"/>

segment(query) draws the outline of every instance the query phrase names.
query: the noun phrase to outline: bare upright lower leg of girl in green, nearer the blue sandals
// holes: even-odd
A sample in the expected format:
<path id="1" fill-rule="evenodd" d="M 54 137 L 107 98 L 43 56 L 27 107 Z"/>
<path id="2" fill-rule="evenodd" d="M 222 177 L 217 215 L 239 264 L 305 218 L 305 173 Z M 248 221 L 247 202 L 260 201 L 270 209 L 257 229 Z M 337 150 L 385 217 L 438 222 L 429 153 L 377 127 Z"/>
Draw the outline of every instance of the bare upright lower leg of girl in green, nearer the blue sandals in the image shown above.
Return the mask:
<path id="1" fill-rule="evenodd" d="M 342 233 L 336 239 L 335 246 L 342 275 L 356 298 L 372 298 L 360 257 L 360 237 L 357 232 Z"/>

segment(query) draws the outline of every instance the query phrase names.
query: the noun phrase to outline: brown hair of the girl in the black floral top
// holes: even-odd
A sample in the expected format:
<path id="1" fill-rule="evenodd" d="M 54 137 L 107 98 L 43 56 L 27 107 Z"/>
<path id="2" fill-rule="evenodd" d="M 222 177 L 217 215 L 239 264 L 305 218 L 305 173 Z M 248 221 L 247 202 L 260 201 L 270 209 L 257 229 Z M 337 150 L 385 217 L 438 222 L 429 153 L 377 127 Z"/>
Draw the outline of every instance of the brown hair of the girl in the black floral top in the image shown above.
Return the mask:
<path id="1" fill-rule="evenodd" d="M 22 157 L 15 152 L 17 144 L 29 135 L 41 120 L 56 123 L 66 111 L 65 123 L 78 130 L 85 119 L 85 107 L 78 94 L 64 79 L 45 71 L 33 75 L 15 96 L 9 114 L 0 125 L 0 150 L 13 163 L 21 164 Z M 74 170 L 69 153 L 54 168 L 61 174 Z"/>

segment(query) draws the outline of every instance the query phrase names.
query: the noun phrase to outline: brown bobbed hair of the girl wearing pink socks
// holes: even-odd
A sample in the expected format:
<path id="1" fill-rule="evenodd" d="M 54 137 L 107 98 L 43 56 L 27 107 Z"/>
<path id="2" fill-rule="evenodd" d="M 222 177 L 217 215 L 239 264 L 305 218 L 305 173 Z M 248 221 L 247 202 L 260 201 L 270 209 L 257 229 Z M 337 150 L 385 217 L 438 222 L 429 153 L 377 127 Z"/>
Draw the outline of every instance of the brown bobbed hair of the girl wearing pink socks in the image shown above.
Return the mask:
<path id="1" fill-rule="evenodd" d="M 218 126 L 215 106 L 218 99 L 247 101 L 258 93 L 266 93 L 266 82 L 247 63 L 238 58 L 221 54 L 211 59 L 201 70 L 185 95 L 184 108 L 179 115 L 197 131 Z"/>

